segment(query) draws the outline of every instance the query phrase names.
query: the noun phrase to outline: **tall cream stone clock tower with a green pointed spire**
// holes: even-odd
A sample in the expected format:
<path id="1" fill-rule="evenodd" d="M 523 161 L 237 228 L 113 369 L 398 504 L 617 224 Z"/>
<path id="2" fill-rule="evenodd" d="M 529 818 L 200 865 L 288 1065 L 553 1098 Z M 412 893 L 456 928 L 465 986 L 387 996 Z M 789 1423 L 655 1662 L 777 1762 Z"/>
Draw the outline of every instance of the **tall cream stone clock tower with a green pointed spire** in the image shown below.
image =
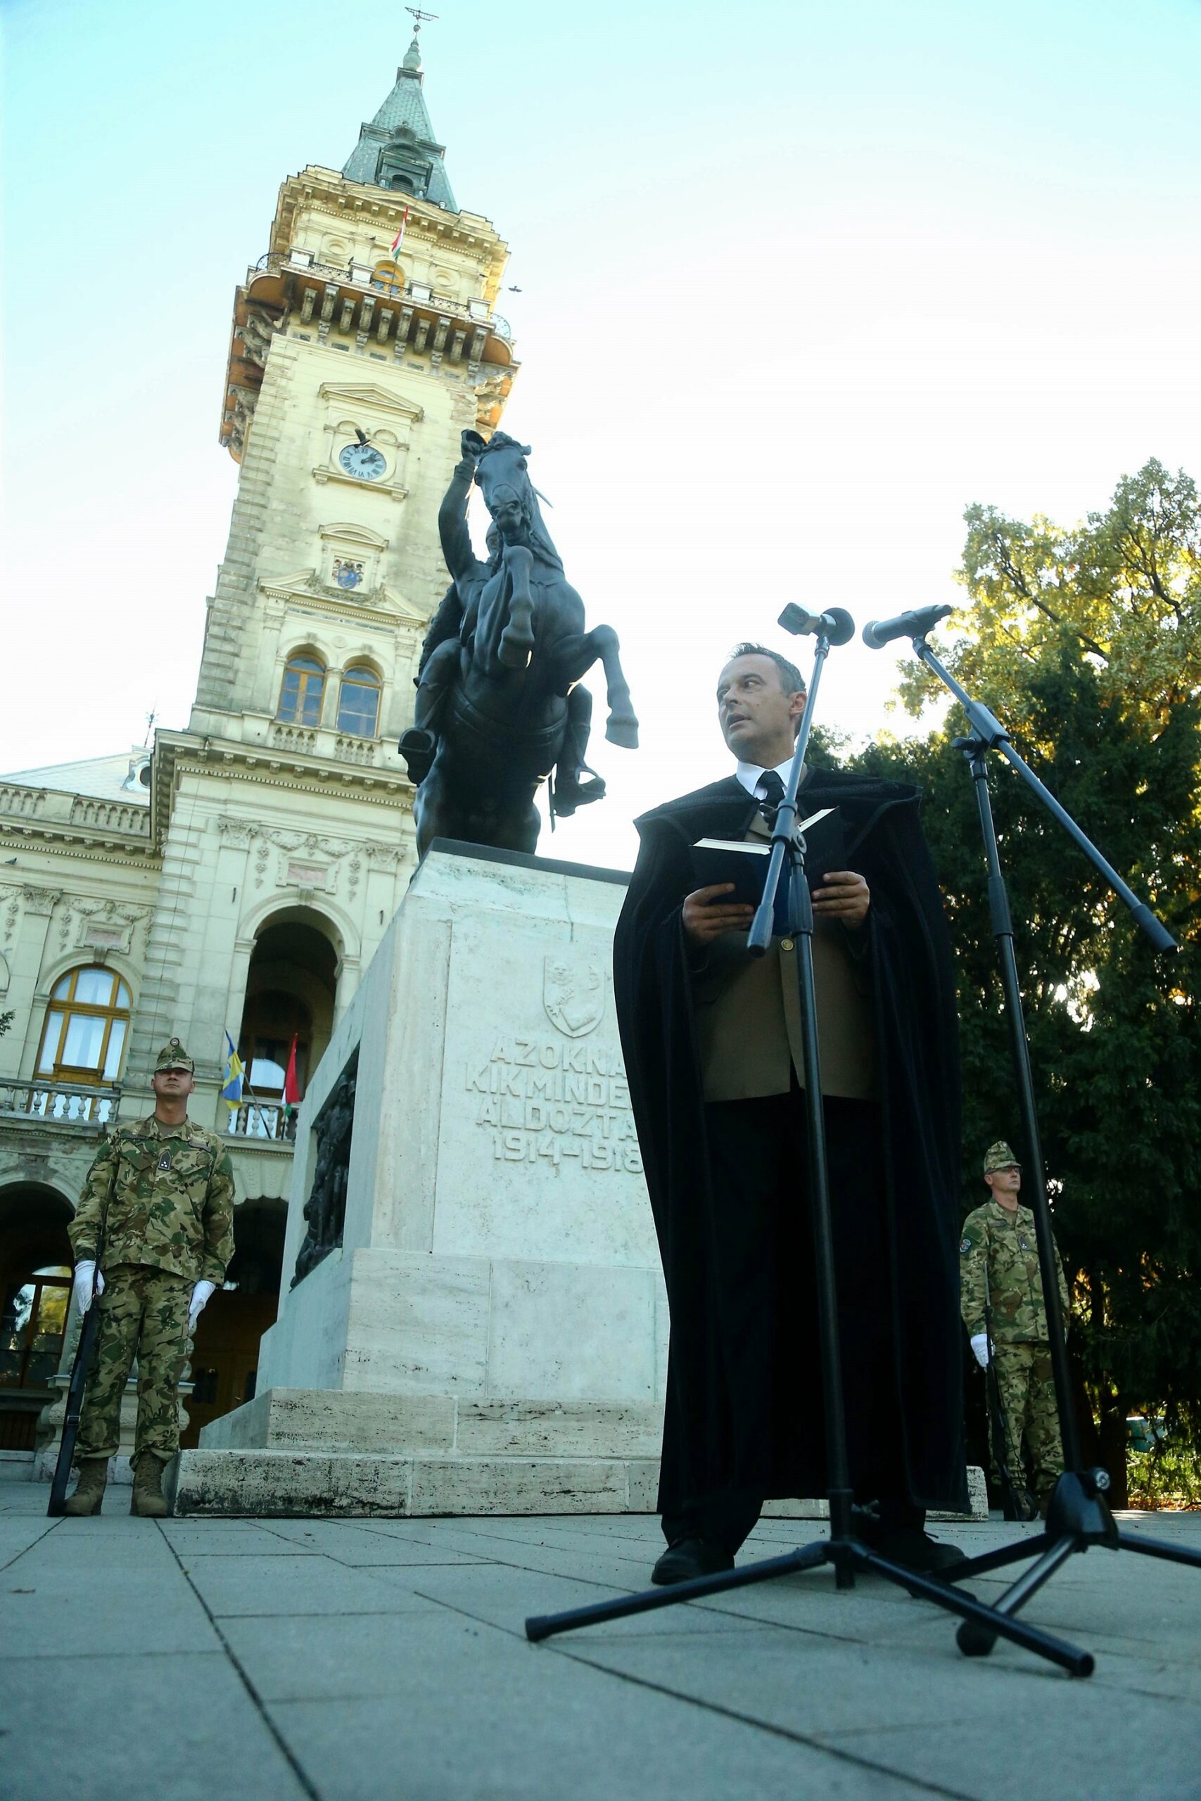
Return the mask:
<path id="1" fill-rule="evenodd" d="M 229 1032 L 263 1102 L 232 1122 L 243 1194 L 286 1194 L 283 1061 L 295 1041 L 303 1090 L 416 864 L 396 740 L 447 587 L 459 434 L 495 427 L 517 367 L 506 258 L 456 202 L 414 38 L 344 167 L 283 184 L 234 294 L 238 497 L 187 731 L 155 740 L 162 879 L 126 1081 L 180 1036 L 193 1113 L 227 1131 Z"/>

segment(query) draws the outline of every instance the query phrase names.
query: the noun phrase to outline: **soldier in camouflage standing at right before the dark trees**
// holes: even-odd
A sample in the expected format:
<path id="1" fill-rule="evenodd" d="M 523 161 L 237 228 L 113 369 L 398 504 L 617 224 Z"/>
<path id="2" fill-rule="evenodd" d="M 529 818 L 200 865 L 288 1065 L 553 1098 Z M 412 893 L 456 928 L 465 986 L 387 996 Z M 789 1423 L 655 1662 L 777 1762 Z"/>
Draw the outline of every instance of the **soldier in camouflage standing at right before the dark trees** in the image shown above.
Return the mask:
<path id="1" fill-rule="evenodd" d="M 1021 1207 L 1021 1165 L 1010 1147 L 998 1140 L 985 1153 L 983 1176 L 992 1198 L 963 1221 L 960 1239 L 960 1313 L 967 1326 L 976 1362 L 989 1367 L 996 1360 L 1001 1410 L 1005 1414 L 1005 1457 L 1017 1484 L 1023 1480 L 1023 1430 L 1030 1446 L 1034 1495 L 1039 1511 L 1055 1488 L 1064 1466 L 1052 1376 L 1050 1326 L 1043 1302 L 1039 1248 L 1034 1214 Z M 1055 1257 L 1059 1302 L 1068 1318 L 1068 1284 Z M 985 1327 L 985 1304 L 992 1315 L 992 1344 Z M 994 1480 L 999 1479 L 996 1459 Z"/>

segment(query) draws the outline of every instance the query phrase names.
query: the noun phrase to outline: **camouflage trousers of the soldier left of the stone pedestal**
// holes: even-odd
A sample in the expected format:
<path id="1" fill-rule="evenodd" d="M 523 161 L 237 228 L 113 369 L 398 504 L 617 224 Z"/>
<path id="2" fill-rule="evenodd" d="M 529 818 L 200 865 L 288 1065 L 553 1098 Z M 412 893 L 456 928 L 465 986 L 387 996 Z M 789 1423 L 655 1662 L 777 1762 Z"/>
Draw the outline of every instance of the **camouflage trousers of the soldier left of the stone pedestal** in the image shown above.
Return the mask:
<path id="1" fill-rule="evenodd" d="M 194 1282 L 144 1263 L 104 1270 L 101 1329 L 83 1390 L 76 1457 L 112 1457 L 121 1443 L 121 1396 L 137 1358 L 133 1455 L 175 1457 L 180 1448 L 178 1381 L 191 1349 L 187 1306 Z"/>

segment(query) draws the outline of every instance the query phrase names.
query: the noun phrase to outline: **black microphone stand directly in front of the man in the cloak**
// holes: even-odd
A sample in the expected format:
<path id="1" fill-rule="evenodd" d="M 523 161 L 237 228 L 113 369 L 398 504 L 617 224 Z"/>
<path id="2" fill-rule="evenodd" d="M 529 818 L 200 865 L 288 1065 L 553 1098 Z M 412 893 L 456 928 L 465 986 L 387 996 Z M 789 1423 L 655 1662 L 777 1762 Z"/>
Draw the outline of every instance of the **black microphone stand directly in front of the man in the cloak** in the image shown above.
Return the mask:
<path id="1" fill-rule="evenodd" d="M 790 609 L 792 611 L 792 609 Z M 790 623 L 790 611 L 781 618 L 781 625 Z M 787 881 L 789 897 L 787 920 L 789 937 L 796 944 L 796 965 L 801 1005 L 801 1061 L 805 1068 L 805 1109 L 808 1126 L 808 1192 L 814 1226 L 814 1259 L 817 1277 L 817 1335 L 821 1349 L 821 1394 L 826 1434 L 826 1493 L 830 1498 L 830 1536 L 814 1540 L 780 1558 L 765 1558 L 762 1563 L 747 1563 L 744 1569 L 726 1570 L 718 1576 L 699 1576 L 695 1581 L 673 1583 L 670 1588 L 648 1588 L 641 1594 L 625 1596 L 619 1601 L 600 1601 L 592 1606 L 578 1606 L 562 1614 L 535 1614 L 526 1619 L 526 1637 L 531 1641 L 549 1639 L 558 1632 L 573 1632 L 578 1626 L 598 1626 L 610 1619 L 625 1619 L 630 1614 L 646 1614 L 661 1606 L 679 1606 L 682 1601 L 700 1601 L 729 1588 L 745 1588 L 751 1583 L 774 1581 L 776 1576 L 796 1576 L 799 1570 L 834 1565 L 837 1588 L 853 1588 L 855 1574 L 873 1572 L 884 1576 L 913 1596 L 924 1596 L 949 1614 L 958 1614 L 963 1628 L 987 1634 L 989 1639 L 1003 1635 L 1016 1644 L 1035 1652 L 1068 1670 L 1071 1675 L 1089 1675 L 1093 1659 L 1088 1652 L 1066 1644 L 1035 1626 L 1026 1626 L 1007 1617 L 996 1608 L 976 1601 L 974 1596 L 951 1588 L 945 1579 L 926 1576 L 920 1570 L 906 1569 L 889 1558 L 871 1551 L 853 1534 L 852 1524 L 852 1479 L 846 1455 L 846 1410 L 843 1396 L 843 1369 L 837 1340 L 837 1282 L 834 1270 L 834 1235 L 830 1228 L 830 1185 L 826 1169 L 825 1109 L 821 1102 L 821 1066 L 817 1052 L 817 1007 L 814 998 L 814 960 L 812 933 L 814 908 L 805 879 L 805 839 L 796 830 L 796 794 L 801 785 L 801 767 L 814 720 L 814 704 L 821 670 L 832 643 L 846 643 L 853 636 L 853 621 L 843 609 L 832 607 L 819 618 L 803 616 L 803 630 L 816 630 L 817 648 L 814 656 L 814 674 L 805 697 L 801 726 L 792 753 L 792 767 L 785 783 L 783 800 L 776 812 L 771 839 L 771 857 L 763 879 L 763 897 L 751 922 L 747 951 L 763 956 L 772 937 L 776 891 Z M 963 1565 L 954 1565 L 945 1574 L 960 1572 Z"/>

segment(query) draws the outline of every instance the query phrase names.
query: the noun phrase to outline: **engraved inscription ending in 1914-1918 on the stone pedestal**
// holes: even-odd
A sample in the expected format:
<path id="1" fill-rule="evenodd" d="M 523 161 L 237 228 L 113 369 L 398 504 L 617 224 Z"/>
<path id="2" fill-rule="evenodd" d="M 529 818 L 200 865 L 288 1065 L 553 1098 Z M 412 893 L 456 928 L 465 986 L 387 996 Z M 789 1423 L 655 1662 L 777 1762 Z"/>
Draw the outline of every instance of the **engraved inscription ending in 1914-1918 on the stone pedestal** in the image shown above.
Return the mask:
<path id="1" fill-rule="evenodd" d="M 643 1172 L 616 1046 L 499 1037 L 490 1057 L 468 1063 L 466 1091 L 499 1163 Z"/>

